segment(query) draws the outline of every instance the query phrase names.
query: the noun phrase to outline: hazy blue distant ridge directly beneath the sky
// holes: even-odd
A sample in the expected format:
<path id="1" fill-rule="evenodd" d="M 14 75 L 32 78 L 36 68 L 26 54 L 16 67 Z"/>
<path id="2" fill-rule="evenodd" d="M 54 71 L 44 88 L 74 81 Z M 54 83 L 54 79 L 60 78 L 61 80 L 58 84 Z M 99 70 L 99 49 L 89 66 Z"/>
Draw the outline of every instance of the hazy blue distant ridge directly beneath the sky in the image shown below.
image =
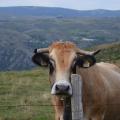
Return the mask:
<path id="1" fill-rule="evenodd" d="M 0 15 L 52 17 L 120 17 L 120 10 L 73 10 L 57 7 L 0 7 Z"/>

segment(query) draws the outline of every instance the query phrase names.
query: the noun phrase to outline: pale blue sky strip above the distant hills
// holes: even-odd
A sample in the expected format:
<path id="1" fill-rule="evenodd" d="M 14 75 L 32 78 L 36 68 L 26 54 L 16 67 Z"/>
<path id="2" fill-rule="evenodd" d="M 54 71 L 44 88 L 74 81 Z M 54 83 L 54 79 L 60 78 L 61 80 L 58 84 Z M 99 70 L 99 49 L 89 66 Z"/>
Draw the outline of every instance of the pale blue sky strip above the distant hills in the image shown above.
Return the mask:
<path id="1" fill-rule="evenodd" d="M 120 0 L 0 0 L 0 7 L 4 6 L 47 6 L 78 10 L 120 10 Z"/>

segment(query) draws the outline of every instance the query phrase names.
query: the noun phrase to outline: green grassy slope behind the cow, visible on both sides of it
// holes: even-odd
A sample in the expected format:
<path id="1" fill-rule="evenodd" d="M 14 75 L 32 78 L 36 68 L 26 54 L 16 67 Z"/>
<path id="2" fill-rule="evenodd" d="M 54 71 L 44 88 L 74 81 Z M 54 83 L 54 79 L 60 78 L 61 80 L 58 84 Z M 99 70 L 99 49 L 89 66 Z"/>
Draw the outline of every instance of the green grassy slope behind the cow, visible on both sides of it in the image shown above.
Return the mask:
<path id="1" fill-rule="evenodd" d="M 102 45 L 94 49 L 98 48 L 102 49 L 97 55 L 98 61 L 120 65 L 120 43 Z M 51 104 L 49 93 L 50 85 L 46 69 L 1 72 L 0 120 L 53 120 L 52 107 L 40 106 Z"/>

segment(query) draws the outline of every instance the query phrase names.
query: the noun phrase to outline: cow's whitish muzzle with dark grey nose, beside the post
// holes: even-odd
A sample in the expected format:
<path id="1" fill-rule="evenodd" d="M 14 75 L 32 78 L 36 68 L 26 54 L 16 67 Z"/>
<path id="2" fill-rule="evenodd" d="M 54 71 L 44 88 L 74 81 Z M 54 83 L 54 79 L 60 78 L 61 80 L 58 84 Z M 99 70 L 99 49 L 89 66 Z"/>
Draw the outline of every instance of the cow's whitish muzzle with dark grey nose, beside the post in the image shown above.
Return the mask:
<path id="1" fill-rule="evenodd" d="M 51 94 L 53 95 L 72 95 L 72 87 L 68 81 L 58 81 L 54 83 Z"/>

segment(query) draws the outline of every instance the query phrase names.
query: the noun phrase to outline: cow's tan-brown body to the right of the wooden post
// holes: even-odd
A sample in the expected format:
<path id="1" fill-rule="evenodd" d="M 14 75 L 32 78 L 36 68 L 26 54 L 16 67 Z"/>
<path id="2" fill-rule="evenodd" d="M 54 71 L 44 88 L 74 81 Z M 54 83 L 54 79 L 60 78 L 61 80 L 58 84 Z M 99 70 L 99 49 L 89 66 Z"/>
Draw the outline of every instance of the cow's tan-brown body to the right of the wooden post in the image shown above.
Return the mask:
<path id="1" fill-rule="evenodd" d="M 120 69 L 109 63 L 97 63 L 80 69 L 83 79 L 84 112 L 103 114 L 104 120 L 120 120 Z"/>

